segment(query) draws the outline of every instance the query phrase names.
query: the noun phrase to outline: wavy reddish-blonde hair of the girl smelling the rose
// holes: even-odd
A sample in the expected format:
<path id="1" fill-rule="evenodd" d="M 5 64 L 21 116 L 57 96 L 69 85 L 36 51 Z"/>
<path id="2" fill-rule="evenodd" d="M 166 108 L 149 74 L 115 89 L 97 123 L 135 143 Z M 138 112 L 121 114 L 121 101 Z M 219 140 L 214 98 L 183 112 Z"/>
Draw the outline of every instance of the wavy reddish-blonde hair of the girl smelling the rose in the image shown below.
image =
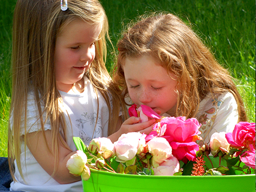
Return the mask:
<path id="1" fill-rule="evenodd" d="M 199 36 L 177 16 L 163 13 L 142 16 L 125 30 L 118 42 L 118 50 L 114 81 L 122 87 L 124 97 L 128 94 L 124 60 L 150 54 L 159 65 L 177 76 L 176 117 L 195 117 L 200 101 L 208 93 L 214 96 L 228 91 L 238 103 L 239 121 L 247 120 L 231 75 L 214 59 Z"/>

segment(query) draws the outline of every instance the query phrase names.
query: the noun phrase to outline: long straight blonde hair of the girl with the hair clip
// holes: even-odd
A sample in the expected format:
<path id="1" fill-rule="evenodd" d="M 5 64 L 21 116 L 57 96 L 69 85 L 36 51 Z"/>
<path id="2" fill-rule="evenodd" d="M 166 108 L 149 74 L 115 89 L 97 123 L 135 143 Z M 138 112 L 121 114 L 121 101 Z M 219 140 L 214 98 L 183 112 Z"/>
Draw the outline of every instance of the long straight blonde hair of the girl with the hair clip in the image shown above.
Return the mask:
<path id="1" fill-rule="evenodd" d="M 8 156 L 11 161 L 16 159 L 21 175 L 21 119 L 25 119 L 24 131 L 27 133 L 27 97 L 31 90 L 35 94 L 43 133 L 45 122 L 42 114 L 46 113 L 46 119 L 50 119 L 55 163 L 58 162 L 57 138 L 66 140 L 65 117 L 59 105 L 62 99 L 56 88 L 53 63 L 58 33 L 65 24 L 76 18 L 89 24 L 103 23 L 99 40 L 95 42 L 95 59 L 85 75 L 91 80 L 95 92 L 100 92 L 107 102 L 110 112 L 108 135 L 117 131 L 119 110 L 120 107 L 125 108 L 125 104 L 120 98 L 118 86 L 113 83 L 105 67 L 108 22 L 101 4 L 97 0 L 68 0 L 68 9 L 62 11 L 60 0 L 18 0 L 13 22 L 10 110 L 13 126 L 9 127 Z M 41 108 L 41 103 L 44 108 Z M 23 139 L 26 142 L 26 134 Z M 13 174 L 11 165 L 12 162 L 10 168 Z"/>

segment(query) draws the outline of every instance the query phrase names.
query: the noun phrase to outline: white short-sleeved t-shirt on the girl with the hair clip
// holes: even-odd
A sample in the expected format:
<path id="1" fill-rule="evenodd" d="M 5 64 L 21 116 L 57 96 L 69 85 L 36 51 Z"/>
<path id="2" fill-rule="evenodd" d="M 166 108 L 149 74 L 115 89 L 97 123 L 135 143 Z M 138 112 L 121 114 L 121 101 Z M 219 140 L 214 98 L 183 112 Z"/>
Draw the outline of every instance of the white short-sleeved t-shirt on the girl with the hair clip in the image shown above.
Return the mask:
<path id="1" fill-rule="evenodd" d="M 80 137 L 86 145 L 89 144 L 92 137 L 107 137 L 109 113 L 106 101 L 100 93 L 98 93 L 98 121 L 94 131 L 98 104 L 97 95 L 95 94 L 93 86 L 89 80 L 85 80 L 85 91 L 83 93 L 70 94 L 60 91 L 60 94 L 63 99 L 63 105 L 67 110 L 64 111 L 67 122 L 67 144 L 73 151 L 76 151 L 76 147 L 73 142 L 73 136 Z M 35 132 L 40 129 L 40 121 L 37 121 L 38 114 L 36 108 L 37 107 L 35 104 L 34 95 L 33 92 L 31 92 L 28 95 L 27 106 L 27 129 L 31 127 L 28 132 Z M 71 123 L 69 121 L 67 113 L 69 114 Z M 12 125 L 12 117 L 10 117 L 10 124 Z M 44 129 L 51 129 L 49 120 L 47 121 Z M 21 134 L 24 135 L 24 128 Z M 22 142 L 21 146 L 21 168 L 25 181 L 23 181 L 15 161 L 15 178 L 17 182 L 11 183 L 10 190 L 33 192 L 82 191 L 81 181 L 69 184 L 59 184 L 58 182 L 56 182 L 49 174 L 47 174 L 46 171 L 44 171 L 40 164 L 37 163 L 36 159 L 31 154 L 29 149 L 27 147 L 24 148 L 24 142 Z"/>

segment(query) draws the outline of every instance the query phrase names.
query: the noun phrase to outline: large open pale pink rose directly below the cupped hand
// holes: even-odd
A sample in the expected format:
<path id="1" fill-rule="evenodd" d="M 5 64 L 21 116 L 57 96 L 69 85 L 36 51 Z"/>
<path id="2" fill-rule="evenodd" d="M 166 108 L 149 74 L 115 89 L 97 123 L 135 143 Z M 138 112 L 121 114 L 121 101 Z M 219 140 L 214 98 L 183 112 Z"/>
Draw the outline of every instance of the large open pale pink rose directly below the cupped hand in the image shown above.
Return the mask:
<path id="1" fill-rule="evenodd" d="M 138 152 L 140 137 L 142 137 L 142 134 L 138 132 L 121 135 L 117 142 L 114 142 L 114 149 L 117 156 L 116 161 L 124 163 L 135 157 Z"/>

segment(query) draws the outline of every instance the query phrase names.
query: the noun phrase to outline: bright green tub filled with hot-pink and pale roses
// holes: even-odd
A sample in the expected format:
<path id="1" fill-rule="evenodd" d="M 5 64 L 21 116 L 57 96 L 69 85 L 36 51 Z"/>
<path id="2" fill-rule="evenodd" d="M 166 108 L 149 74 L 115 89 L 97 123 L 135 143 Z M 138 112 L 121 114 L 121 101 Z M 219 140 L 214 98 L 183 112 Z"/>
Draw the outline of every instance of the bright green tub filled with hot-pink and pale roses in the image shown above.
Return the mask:
<path id="1" fill-rule="evenodd" d="M 195 118 L 162 117 L 144 105 L 133 105 L 129 114 L 157 123 L 149 135 L 131 132 L 114 143 L 96 138 L 85 146 L 73 138 L 79 151 L 67 168 L 81 175 L 84 191 L 198 191 L 200 183 L 200 191 L 255 190 L 255 123 L 214 133 L 208 146 L 197 144 Z"/>

